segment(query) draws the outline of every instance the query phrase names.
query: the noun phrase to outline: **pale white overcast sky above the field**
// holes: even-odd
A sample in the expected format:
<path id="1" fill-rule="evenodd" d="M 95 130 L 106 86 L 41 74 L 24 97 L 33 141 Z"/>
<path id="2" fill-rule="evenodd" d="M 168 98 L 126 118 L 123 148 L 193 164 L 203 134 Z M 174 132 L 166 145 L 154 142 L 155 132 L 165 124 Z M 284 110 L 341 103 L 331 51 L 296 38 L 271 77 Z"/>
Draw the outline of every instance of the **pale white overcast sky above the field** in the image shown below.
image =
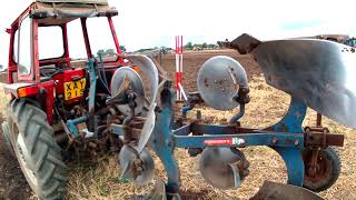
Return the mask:
<path id="1" fill-rule="evenodd" d="M 30 0 L 11 0 L 0 12 L 4 30 Z M 323 33 L 356 36 L 356 1 L 338 0 L 109 0 L 119 10 L 115 26 L 128 50 L 174 47 L 175 36 L 185 43 L 235 39 L 247 32 L 260 40 Z M 349 10 L 348 10 L 349 9 Z M 355 9 L 354 9 L 355 10 Z M 107 38 L 102 38 L 102 43 Z M 9 37 L 0 33 L 0 63 L 8 63 Z M 77 47 L 78 41 L 72 41 Z M 79 47 L 79 44 L 78 44 Z M 49 49 L 50 51 L 50 49 Z"/>

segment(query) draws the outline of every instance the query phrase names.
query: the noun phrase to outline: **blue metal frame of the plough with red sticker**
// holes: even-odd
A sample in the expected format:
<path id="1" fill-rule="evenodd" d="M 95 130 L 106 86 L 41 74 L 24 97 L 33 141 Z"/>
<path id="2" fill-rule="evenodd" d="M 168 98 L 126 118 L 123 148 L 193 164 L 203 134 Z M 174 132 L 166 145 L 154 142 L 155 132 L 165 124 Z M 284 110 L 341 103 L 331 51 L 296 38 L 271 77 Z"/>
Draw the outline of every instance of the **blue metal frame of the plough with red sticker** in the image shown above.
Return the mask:
<path id="1" fill-rule="evenodd" d="M 160 110 L 156 116 L 150 144 L 166 169 L 168 177 L 166 191 L 168 193 L 179 191 L 179 169 L 174 157 L 175 148 L 202 149 L 210 144 L 216 146 L 214 141 L 227 141 L 226 143 L 218 143 L 219 147 L 268 146 L 284 159 L 287 167 L 288 183 L 303 184 L 304 161 L 301 150 L 304 148 L 304 132 L 301 123 L 307 109 L 303 102 L 291 98 L 287 113 L 275 126 L 264 130 L 245 129 L 245 131 L 238 131 L 239 129 L 236 126 L 199 124 L 196 122 L 184 123 L 179 127 L 174 121 L 174 90 L 167 88 L 160 96 Z M 112 124 L 111 131 L 116 134 L 123 134 L 125 126 Z M 199 132 L 200 136 L 191 136 L 194 132 Z"/>

